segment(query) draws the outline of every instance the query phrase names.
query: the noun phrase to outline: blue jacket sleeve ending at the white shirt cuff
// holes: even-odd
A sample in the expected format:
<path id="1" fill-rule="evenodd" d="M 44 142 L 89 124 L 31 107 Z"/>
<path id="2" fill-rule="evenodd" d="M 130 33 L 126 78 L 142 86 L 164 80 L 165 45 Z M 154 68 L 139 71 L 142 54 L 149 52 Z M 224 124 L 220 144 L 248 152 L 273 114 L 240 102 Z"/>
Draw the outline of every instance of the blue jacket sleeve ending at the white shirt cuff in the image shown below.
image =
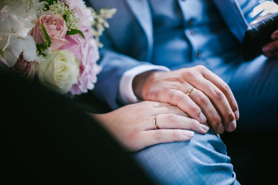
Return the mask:
<path id="1" fill-rule="evenodd" d="M 106 35 L 101 36 L 104 47 L 100 49 L 100 59 L 98 61 L 102 70 L 97 76 L 97 83 L 92 92 L 101 100 L 106 102 L 112 109 L 122 106 L 118 99 L 120 80 L 122 74 L 132 67 L 138 65 L 152 65 L 147 62 L 140 62 L 134 58 L 120 54 L 113 49 Z"/>

